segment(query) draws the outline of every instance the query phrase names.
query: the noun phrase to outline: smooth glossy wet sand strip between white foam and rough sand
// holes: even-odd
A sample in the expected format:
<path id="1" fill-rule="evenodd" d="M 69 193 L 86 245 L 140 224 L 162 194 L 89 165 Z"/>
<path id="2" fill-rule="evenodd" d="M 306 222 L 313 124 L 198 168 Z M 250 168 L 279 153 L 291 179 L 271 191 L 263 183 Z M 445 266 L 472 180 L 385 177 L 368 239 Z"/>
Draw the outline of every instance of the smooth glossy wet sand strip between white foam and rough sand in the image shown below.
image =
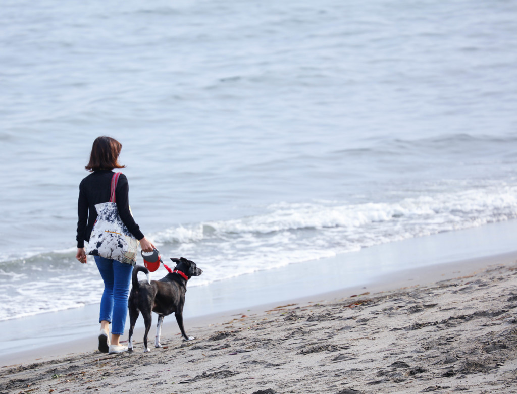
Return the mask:
<path id="1" fill-rule="evenodd" d="M 327 259 L 281 266 L 207 286 L 189 286 L 184 320 L 191 327 L 218 322 L 242 311 L 313 300 L 343 297 L 349 293 L 394 289 L 454 275 L 465 264 L 483 264 L 517 255 L 512 234 L 517 220 L 381 244 Z M 457 269 L 454 266 L 458 265 Z M 203 268 L 203 266 L 201 266 Z M 434 275 L 434 276 L 433 276 Z M 193 279 L 194 281 L 195 279 Z M 366 289 L 363 289 L 366 288 Z M 49 359 L 69 352 L 95 350 L 98 304 L 0 322 L 0 366 L 23 363 L 27 358 Z M 156 315 L 153 326 L 156 324 Z M 136 322 L 135 335 L 143 331 Z M 36 328 L 35 328 L 36 327 Z M 154 328 L 151 328 L 151 332 Z M 128 321 L 126 322 L 127 340 Z M 179 333 L 175 319 L 166 317 L 163 332 Z M 154 335 L 154 333 L 153 333 Z M 195 335 L 194 335 L 195 336 Z"/>

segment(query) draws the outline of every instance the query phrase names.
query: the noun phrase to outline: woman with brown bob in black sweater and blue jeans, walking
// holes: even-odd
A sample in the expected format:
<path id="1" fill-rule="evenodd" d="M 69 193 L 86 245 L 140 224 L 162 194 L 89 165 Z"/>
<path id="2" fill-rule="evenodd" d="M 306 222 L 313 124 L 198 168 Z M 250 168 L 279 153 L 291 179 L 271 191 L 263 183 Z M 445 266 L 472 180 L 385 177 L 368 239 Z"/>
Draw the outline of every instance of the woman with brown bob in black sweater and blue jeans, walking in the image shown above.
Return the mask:
<path id="1" fill-rule="evenodd" d="M 92 174 L 84 178 L 79 185 L 79 221 L 77 224 L 77 255 L 75 255 L 75 258 L 83 264 L 86 264 L 84 241 L 89 240 L 97 219 L 95 204 L 110 200 L 111 179 L 114 174 L 112 170 L 126 167 L 118 162 L 121 149 L 122 145 L 116 139 L 105 136 L 98 137 L 94 141 L 90 161 L 85 167 Z M 153 251 L 154 245 L 144 237 L 140 227 L 131 215 L 128 191 L 127 178 L 124 174 L 120 174 L 115 189 L 115 201 L 120 218 L 134 237 L 140 241 L 142 250 Z M 104 292 L 100 302 L 99 350 L 110 354 L 125 352 L 128 348 L 120 344 L 120 336 L 124 334 L 126 324 L 129 283 L 131 282 L 133 266 L 100 256 L 94 256 L 94 259 L 104 281 Z M 112 324 L 111 342 L 108 338 L 110 323 Z"/>

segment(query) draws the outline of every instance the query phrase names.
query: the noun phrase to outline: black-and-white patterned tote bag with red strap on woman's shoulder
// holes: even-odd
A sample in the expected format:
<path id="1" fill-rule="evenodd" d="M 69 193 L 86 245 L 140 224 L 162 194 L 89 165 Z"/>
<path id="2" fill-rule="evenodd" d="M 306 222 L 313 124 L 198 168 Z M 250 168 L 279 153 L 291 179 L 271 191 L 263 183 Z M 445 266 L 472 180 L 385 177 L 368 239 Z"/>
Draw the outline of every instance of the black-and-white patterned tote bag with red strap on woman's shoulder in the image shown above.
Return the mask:
<path id="1" fill-rule="evenodd" d="M 138 240 L 129 232 L 120 218 L 115 202 L 115 189 L 120 174 L 122 173 L 113 174 L 111 179 L 110 202 L 95 205 L 98 217 L 92 229 L 86 253 L 134 266 L 138 252 Z"/>

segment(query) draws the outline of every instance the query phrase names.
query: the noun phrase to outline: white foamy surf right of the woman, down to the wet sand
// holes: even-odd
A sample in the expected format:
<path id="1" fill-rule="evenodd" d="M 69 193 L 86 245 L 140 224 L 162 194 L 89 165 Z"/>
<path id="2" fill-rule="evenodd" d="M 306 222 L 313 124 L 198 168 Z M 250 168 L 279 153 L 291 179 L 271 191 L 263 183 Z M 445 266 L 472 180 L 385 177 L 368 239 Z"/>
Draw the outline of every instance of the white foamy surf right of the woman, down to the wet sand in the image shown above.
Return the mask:
<path id="1" fill-rule="evenodd" d="M 260 215 L 176 226 L 152 235 L 165 250 L 203 263 L 206 275 L 197 284 L 206 284 L 229 273 L 250 274 L 514 218 L 517 186 L 494 186 L 394 202 L 278 203 Z"/>

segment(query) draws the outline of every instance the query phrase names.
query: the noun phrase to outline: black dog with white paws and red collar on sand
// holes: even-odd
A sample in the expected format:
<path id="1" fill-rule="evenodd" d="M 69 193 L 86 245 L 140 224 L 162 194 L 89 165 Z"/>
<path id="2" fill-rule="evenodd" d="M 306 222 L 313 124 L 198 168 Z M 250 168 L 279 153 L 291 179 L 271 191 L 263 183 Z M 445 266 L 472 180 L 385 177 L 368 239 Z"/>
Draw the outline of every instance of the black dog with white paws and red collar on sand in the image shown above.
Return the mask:
<path id="1" fill-rule="evenodd" d="M 158 313 L 158 325 L 156 327 L 155 347 L 161 348 L 160 334 L 164 316 L 169 316 L 174 312 L 176 321 L 178 322 L 181 335 L 186 340 L 194 339 L 185 334 L 183 328 L 183 305 L 185 304 L 185 292 L 187 291 L 187 280 L 192 276 L 200 276 L 203 271 L 196 267 L 193 261 L 185 258 L 173 259 L 176 267 L 173 272 L 160 280 L 149 280 L 149 271 L 143 266 L 136 266 L 133 270 L 132 283 L 133 288 L 129 294 L 129 344 L 128 351 L 133 351 L 133 329 L 136 319 L 140 312 L 144 317 L 145 334 L 144 334 L 144 352 L 150 352 L 147 347 L 147 334 L 151 328 L 152 313 Z M 138 273 L 144 272 L 147 281 L 138 281 Z"/>

